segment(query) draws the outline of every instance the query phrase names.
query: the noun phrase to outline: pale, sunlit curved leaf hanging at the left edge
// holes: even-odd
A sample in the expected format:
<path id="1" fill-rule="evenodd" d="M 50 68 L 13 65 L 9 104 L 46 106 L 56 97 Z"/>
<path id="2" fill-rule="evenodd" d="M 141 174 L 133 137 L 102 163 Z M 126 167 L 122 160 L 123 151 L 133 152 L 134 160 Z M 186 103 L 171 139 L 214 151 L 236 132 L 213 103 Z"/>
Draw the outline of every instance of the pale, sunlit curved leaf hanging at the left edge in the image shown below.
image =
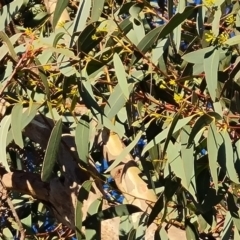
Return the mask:
<path id="1" fill-rule="evenodd" d="M 8 129 L 11 123 L 11 116 L 5 116 L 1 123 L 0 123 L 0 163 L 5 167 L 7 171 L 10 171 L 9 165 L 7 162 L 7 154 L 6 154 L 6 147 L 7 147 L 7 134 Z"/>

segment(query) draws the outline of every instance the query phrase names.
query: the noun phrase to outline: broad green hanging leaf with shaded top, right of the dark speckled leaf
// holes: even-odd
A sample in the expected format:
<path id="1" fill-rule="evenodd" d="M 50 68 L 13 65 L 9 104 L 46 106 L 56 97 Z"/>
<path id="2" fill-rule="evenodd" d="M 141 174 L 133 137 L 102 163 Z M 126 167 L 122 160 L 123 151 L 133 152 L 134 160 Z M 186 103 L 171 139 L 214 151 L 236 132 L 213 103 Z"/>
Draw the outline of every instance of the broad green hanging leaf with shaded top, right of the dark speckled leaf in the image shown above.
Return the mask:
<path id="1" fill-rule="evenodd" d="M 89 117 L 87 115 L 83 115 L 76 127 L 75 143 L 79 159 L 86 164 L 88 163 L 89 136 Z"/>

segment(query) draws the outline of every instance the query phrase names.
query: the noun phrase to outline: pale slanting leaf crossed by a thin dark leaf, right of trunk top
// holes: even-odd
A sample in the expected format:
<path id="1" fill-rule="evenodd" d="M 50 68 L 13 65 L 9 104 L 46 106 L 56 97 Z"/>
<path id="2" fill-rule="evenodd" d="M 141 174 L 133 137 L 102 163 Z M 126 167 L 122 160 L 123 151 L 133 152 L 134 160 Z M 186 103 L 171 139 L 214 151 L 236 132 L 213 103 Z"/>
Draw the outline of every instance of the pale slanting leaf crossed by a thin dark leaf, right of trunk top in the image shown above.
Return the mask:
<path id="1" fill-rule="evenodd" d="M 174 128 L 173 134 L 176 133 L 178 130 L 180 130 L 185 125 L 187 125 L 191 121 L 192 118 L 193 118 L 193 116 L 190 116 L 190 117 L 179 120 L 176 127 Z M 162 132 L 160 132 L 153 140 L 151 140 L 144 147 L 141 155 L 143 156 L 149 149 L 154 147 L 154 145 L 156 145 L 156 144 L 160 143 L 161 141 L 163 141 L 164 139 L 166 139 L 170 127 L 171 127 L 171 125 L 168 126 L 166 129 L 164 129 Z"/>

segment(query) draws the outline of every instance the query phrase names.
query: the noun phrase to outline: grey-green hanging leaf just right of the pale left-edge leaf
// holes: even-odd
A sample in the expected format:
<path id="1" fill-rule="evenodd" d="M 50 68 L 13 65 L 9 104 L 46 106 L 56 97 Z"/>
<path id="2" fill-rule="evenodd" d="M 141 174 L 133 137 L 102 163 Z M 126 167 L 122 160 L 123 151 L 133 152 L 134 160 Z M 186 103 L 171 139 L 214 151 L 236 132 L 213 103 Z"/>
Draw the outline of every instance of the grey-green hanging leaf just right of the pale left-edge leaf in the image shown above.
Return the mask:
<path id="1" fill-rule="evenodd" d="M 23 148 L 23 139 L 22 139 L 22 114 L 23 106 L 21 103 L 15 104 L 12 109 L 11 114 L 11 128 L 14 142 L 20 147 Z"/>

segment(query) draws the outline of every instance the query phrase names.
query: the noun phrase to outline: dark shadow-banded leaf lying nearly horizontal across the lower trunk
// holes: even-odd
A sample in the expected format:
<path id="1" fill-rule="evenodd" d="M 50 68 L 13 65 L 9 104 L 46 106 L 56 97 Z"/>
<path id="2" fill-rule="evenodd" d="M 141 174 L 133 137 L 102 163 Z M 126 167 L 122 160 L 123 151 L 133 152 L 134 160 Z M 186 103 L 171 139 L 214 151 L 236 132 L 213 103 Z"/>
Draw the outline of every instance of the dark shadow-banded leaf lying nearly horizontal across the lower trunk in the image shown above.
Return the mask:
<path id="1" fill-rule="evenodd" d="M 83 225 L 86 227 L 91 226 L 91 222 L 94 220 L 103 221 L 115 217 L 129 216 L 133 213 L 141 212 L 142 210 L 134 205 L 121 204 L 117 206 L 111 206 L 101 212 L 98 212 L 92 216 L 86 218 Z"/>

